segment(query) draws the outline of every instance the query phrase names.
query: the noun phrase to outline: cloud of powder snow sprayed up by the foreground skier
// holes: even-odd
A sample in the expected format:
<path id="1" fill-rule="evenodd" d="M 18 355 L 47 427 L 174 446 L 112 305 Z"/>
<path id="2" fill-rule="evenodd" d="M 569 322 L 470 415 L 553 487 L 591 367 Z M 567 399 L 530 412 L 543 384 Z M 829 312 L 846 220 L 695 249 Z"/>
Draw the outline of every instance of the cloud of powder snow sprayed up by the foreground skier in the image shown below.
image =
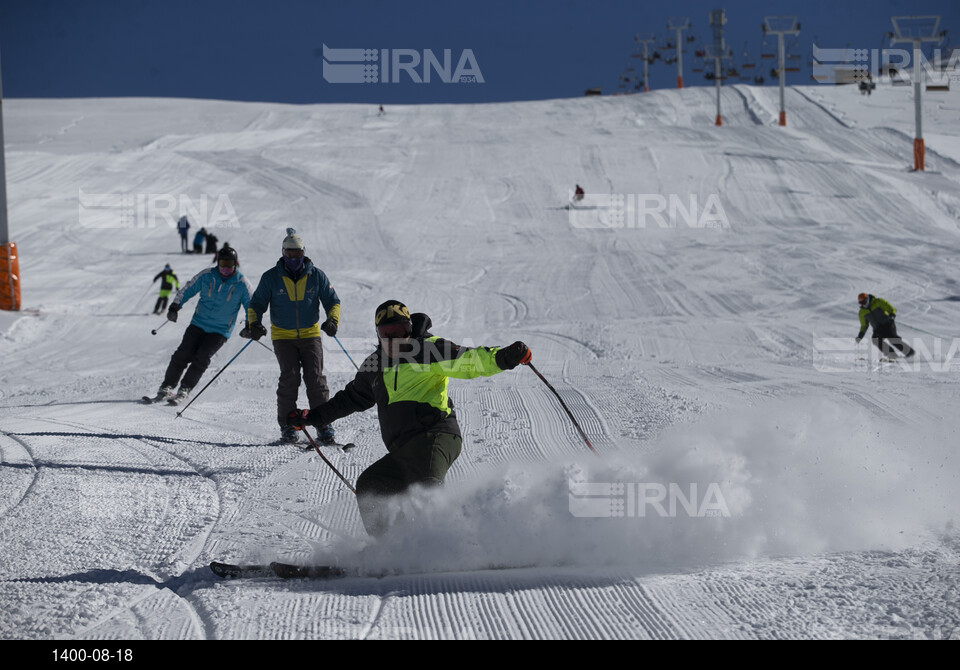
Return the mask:
<path id="1" fill-rule="evenodd" d="M 820 400 L 725 413 L 672 428 L 646 454 L 517 463 L 414 491 L 400 503 L 406 521 L 361 560 L 400 571 L 658 570 L 899 549 L 952 527 L 960 464 L 944 432 Z"/>

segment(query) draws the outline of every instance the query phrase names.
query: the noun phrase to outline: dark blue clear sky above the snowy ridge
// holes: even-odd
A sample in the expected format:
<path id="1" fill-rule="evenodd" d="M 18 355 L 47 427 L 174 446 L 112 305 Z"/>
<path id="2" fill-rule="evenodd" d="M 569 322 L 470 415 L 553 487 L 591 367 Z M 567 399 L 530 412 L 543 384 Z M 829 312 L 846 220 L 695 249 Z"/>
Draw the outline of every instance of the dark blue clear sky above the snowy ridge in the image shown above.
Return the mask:
<path id="1" fill-rule="evenodd" d="M 740 60 L 748 44 L 766 63 L 768 84 L 771 63 L 759 58 L 765 15 L 800 18 L 801 72 L 789 75 L 796 84 L 814 83 L 815 38 L 826 48 L 880 48 L 893 15 L 940 14 L 960 44 L 957 0 L 0 0 L 3 94 L 384 104 L 576 97 L 597 86 L 607 94 L 622 90 L 625 68 L 641 71 L 630 58 L 637 33 L 665 40 L 667 20 L 688 16 L 699 45 L 720 7 L 729 46 Z M 377 81 L 325 81 L 324 44 L 377 49 L 368 62 L 378 65 Z M 465 64 L 483 83 L 443 83 L 433 70 L 430 83 L 414 83 L 389 59 L 399 81 L 381 83 L 383 49 L 416 58 L 429 50 L 441 61 L 450 49 L 451 71 L 470 50 L 474 60 Z M 707 85 L 692 72 L 692 51 L 685 82 Z M 414 72 L 422 76 L 422 64 Z M 660 61 L 650 72 L 653 88 L 675 86 L 675 66 Z"/>

